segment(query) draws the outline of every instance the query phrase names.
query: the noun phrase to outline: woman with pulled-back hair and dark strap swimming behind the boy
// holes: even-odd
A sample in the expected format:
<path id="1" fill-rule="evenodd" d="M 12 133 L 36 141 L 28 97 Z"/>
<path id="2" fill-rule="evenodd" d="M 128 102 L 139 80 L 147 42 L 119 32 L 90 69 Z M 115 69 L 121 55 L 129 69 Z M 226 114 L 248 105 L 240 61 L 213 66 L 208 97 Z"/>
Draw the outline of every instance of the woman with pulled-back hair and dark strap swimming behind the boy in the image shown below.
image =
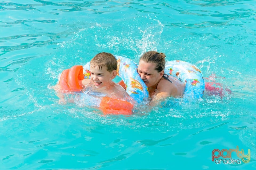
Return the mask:
<path id="1" fill-rule="evenodd" d="M 151 105 L 166 97 L 182 97 L 185 91 L 185 83 L 165 74 L 164 70 L 165 54 L 149 51 L 141 56 L 137 71 L 149 88 Z"/>

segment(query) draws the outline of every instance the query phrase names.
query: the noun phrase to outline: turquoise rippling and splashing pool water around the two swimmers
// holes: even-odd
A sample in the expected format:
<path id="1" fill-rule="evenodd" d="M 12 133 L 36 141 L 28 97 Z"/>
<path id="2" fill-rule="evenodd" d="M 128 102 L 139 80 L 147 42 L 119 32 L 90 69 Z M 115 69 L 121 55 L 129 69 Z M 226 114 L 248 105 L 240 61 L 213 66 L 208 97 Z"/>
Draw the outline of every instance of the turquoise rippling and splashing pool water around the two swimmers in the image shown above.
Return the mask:
<path id="1" fill-rule="evenodd" d="M 0 169 L 255 169 L 256 1 L 0 1 Z M 58 104 L 62 70 L 105 51 L 201 69 L 232 94 L 132 116 Z M 216 164 L 239 146 L 250 162 Z M 233 159 L 239 159 L 234 153 Z M 224 158 L 222 158 L 224 159 Z"/>

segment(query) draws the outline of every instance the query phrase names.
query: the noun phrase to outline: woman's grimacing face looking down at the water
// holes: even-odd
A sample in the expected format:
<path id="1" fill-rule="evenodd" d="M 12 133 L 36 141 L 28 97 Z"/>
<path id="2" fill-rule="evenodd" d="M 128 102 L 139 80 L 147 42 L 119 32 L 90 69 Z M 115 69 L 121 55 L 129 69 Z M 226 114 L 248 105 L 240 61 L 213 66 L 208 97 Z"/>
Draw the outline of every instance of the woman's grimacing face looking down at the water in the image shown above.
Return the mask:
<path id="1" fill-rule="evenodd" d="M 158 73 L 155 66 L 155 63 L 139 61 L 138 73 L 147 87 L 156 86 L 163 75 L 163 71 Z"/>

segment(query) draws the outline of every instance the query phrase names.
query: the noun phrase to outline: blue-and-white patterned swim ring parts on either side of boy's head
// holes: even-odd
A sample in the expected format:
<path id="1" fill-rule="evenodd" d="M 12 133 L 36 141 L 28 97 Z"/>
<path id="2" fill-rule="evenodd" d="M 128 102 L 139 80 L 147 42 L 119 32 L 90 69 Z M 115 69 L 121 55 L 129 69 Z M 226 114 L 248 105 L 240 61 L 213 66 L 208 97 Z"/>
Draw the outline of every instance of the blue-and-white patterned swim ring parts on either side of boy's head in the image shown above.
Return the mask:
<path id="1" fill-rule="evenodd" d="M 149 96 L 148 88 L 137 72 L 137 65 L 129 58 L 115 56 L 117 59 L 117 72 L 126 84 L 127 93 L 138 103 Z M 90 78 L 90 62 L 83 66 L 85 78 Z"/>

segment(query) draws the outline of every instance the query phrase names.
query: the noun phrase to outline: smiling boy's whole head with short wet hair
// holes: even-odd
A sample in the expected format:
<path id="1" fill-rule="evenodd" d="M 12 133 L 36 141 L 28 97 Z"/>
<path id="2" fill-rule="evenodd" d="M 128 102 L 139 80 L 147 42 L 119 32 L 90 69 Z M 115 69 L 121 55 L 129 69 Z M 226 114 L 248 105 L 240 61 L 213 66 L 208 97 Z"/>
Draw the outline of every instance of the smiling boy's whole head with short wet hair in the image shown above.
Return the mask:
<path id="1" fill-rule="evenodd" d="M 110 53 L 99 53 L 90 62 L 91 79 L 96 88 L 111 87 L 117 75 L 117 60 Z"/>

